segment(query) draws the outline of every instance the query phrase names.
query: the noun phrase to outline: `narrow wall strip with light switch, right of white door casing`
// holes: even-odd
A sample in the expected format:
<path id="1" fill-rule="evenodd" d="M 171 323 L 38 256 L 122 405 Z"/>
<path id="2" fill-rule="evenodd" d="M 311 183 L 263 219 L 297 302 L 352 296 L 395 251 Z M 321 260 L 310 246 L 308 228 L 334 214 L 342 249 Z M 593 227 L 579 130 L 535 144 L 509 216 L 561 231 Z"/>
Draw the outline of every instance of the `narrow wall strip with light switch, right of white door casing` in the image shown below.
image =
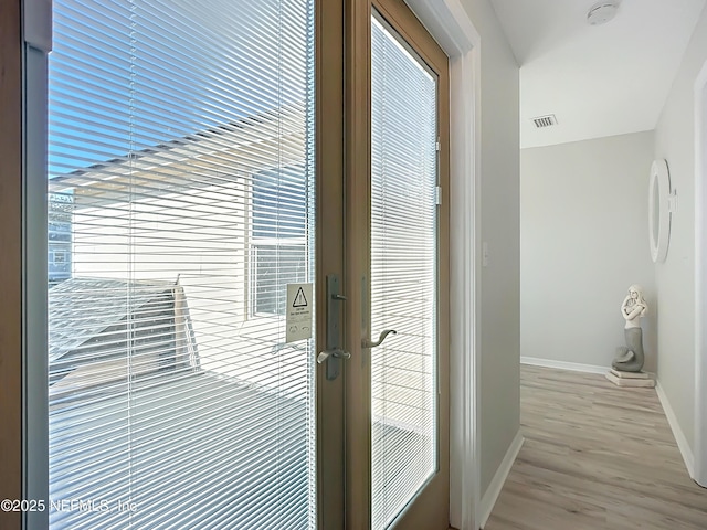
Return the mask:
<path id="1" fill-rule="evenodd" d="M 489 248 L 477 307 L 482 497 L 520 425 L 519 71 L 488 0 L 462 4 L 482 40 L 481 239 Z"/>

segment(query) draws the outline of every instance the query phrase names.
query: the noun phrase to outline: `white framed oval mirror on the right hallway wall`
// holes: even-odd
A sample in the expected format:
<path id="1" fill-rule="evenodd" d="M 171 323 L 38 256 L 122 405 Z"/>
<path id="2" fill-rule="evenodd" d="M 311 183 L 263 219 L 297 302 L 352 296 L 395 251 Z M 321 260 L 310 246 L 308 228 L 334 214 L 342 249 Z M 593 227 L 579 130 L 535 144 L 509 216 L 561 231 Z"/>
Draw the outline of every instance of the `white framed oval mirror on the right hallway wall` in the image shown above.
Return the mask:
<path id="1" fill-rule="evenodd" d="M 671 241 L 672 198 L 667 162 L 654 160 L 651 165 L 651 180 L 648 182 L 648 233 L 651 257 L 654 263 L 662 263 L 667 256 Z"/>

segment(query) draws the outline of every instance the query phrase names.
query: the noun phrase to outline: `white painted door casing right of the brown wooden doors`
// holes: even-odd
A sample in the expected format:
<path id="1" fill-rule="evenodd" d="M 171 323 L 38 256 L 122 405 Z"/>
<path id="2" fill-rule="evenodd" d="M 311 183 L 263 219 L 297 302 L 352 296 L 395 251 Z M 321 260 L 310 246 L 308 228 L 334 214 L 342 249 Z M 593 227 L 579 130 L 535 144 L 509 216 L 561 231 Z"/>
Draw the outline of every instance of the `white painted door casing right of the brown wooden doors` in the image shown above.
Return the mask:
<path id="1" fill-rule="evenodd" d="M 482 38 L 460 0 L 405 0 L 450 57 L 450 521 L 481 526 L 481 56 Z"/>

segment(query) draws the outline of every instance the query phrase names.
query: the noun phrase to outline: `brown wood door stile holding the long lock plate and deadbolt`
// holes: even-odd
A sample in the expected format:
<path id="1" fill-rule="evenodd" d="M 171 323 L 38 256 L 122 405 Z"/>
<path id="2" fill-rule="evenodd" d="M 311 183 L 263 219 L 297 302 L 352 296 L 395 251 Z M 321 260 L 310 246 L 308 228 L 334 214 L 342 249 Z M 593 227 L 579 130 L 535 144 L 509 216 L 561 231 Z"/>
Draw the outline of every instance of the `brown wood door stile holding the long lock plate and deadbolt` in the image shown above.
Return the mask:
<path id="1" fill-rule="evenodd" d="M 344 277 L 344 3 L 319 0 L 315 17 L 316 343 L 321 351 L 327 341 L 326 276 Z M 327 381 L 326 363 L 319 364 L 317 522 L 321 529 L 344 528 L 344 378 Z"/>

